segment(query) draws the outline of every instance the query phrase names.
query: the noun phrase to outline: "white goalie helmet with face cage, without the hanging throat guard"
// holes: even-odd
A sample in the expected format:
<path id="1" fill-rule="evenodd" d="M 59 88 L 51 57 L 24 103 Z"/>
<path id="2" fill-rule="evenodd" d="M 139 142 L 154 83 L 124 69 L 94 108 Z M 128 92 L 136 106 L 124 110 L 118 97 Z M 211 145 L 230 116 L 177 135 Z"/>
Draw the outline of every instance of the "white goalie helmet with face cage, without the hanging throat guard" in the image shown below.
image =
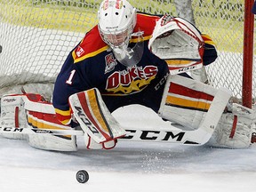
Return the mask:
<path id="1" fill-rule="evenodd" d="M 98 12 L 100 36 L 112 49 L 128 46 L 136 25 L 136 9 L 126 0 L 104 0 Z"/>

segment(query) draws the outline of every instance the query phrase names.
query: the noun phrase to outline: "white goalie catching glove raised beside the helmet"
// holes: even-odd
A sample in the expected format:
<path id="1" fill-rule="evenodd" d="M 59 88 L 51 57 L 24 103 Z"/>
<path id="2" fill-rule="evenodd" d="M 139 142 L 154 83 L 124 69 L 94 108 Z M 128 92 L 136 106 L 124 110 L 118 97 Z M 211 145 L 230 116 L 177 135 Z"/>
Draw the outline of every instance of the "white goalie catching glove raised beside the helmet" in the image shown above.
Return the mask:
<path id="1" fill-rule="evenodd" d="M 202 68 L 204 40 L 188 21 L 164 15 L 156 22 L 148 49 L 166 61 L 172 75 Z"/>

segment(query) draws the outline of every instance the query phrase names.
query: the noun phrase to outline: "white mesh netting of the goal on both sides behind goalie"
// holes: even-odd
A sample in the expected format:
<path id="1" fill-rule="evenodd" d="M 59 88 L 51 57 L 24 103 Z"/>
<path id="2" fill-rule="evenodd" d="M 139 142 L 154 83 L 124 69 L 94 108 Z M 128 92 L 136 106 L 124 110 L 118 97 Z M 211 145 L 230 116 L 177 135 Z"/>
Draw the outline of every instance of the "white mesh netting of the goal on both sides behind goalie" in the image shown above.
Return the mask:
<path id="1" fill-rule="evenodd" d="M 0 94 L 22 84 L 54 84 L 68 52 L 97 23 L 100 2 L 0 0 Z M 129 2 L 141 12 L 183 17 L 212 36 L 219 57 L 206 68 L 210 84 L 227 87 L 236 98 L 243 97 L 244 0 Z"/>

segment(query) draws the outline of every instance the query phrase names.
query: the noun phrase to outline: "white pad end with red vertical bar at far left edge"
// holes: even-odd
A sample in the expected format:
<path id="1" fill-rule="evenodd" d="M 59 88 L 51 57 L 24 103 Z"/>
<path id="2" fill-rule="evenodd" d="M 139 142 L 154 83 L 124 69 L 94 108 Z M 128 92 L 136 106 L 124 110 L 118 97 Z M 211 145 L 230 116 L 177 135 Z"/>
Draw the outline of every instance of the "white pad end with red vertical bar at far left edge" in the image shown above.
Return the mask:
<path id="1" fill-rule="evenodd" d="M 1 99 L 1 126 L 2 127 L 26 127 L 26 113 L 22 95 L 4 95 Z M 2 133 L 9 139 L 26 140 L 26 134 Z"/>

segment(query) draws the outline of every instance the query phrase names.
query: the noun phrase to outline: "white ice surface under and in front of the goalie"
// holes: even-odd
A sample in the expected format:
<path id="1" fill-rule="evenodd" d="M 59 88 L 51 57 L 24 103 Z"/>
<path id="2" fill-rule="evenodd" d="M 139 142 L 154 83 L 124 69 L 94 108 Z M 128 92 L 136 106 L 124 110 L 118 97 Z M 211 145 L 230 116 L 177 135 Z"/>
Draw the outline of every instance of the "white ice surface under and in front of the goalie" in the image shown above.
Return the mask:
<path id="1" fill-rule="evenodd" d="M 138 106 L 114 115 L 131 126 L 169 124 Z M 238 150 L 119 140 L 112 150 L 87 150 L 82 139 L 76 152 L 52 152 L 0 137 L 0 191 L 241 192 L 255 186 L 256 144 Z M 84 184 L 76 181 L 82 169 L 90 174 Z"/>

